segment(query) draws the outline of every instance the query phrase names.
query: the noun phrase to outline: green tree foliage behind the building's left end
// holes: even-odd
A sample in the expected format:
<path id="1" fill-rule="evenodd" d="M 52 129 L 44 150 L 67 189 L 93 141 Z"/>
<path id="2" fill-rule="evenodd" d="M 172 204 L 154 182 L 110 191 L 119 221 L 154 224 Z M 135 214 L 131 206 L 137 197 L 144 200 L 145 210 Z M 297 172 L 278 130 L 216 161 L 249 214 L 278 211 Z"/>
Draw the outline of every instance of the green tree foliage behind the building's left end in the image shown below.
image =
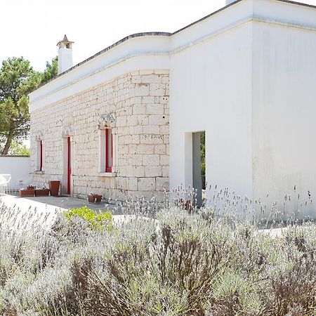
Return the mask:
<path id="1" fill-rule="evenodd" d="M 29 133 L 27 94 L 57 75 L 57 58 L 46 62 L 43 73 L 36 72 L 25 58 L 8 58 L 0 68 L 0 150 L 8 154 L 13 140 Z"/>

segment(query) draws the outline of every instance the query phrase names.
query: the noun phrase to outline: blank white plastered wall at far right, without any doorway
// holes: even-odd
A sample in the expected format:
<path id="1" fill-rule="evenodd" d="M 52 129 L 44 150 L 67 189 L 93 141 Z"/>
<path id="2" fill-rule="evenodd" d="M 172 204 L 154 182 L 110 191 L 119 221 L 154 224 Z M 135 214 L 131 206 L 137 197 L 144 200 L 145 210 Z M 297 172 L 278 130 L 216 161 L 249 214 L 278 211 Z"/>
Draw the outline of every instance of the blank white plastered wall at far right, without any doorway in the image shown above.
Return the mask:
<path id="1" fill-rule="evenodd" d="M 298 24 L 316 13 L 293 5 L 286 10 L 297 14 L 287 27 L 254 22 L 253 190 L 255 198 L 268 195 L 268 205 L 278 200 L 288 215 L 298 208 L 296 216 L 315 217 L 308 190 L 316 195 L 316 31 Z M 287 207 L 285 195 L 292 200 Z"/>

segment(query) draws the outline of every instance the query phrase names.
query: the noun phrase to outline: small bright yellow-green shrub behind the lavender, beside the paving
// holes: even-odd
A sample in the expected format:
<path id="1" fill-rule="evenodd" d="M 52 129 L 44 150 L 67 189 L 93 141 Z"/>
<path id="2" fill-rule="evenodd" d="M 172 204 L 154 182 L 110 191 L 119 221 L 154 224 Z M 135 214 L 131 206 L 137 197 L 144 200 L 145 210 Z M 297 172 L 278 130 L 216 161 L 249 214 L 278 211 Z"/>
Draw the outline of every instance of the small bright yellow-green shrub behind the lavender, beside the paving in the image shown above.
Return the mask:
<path id="1" fill-rule="evenodd" d="M 107 230 L 112 231 L 113 228 L 113 215 L 110 211 L 97 212 L 93 209 L 88 209 L 86 206 L 82 206 L 79 209 L 70 209 L 70 211 L 65 211 L 65 218 L 71 220 L 74 217 L 79 217 L 88 222 L 88 226 L 92 230 Z"/>

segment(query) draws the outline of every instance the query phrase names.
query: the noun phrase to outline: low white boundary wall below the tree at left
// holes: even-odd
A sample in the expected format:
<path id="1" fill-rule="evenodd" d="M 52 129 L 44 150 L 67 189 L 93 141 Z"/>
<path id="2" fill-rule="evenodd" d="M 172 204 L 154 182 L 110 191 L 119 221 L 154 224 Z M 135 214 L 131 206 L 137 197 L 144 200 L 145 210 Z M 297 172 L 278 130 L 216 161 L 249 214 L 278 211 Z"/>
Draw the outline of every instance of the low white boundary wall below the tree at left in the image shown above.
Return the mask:
<path id="1" fill-rule="evenodd" d="M 10 190 L 18 190 L 29 183 L 29 157 L 28 156 L 1 156 L 0 173 L 10 173 Z M 20 185 L 22 181 L 22 185 Z"/>

